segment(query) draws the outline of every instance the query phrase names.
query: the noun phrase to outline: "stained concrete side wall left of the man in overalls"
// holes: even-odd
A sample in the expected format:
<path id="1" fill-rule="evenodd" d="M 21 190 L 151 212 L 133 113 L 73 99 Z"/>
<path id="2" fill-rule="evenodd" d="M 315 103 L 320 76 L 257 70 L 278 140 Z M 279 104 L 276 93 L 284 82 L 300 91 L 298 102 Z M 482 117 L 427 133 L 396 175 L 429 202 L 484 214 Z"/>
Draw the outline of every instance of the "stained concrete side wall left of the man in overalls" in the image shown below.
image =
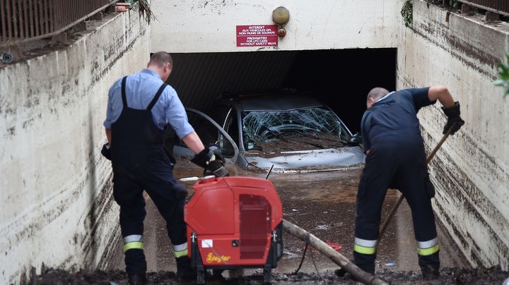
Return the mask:
<path id="1" fill-rule="evenodd" d="M 93 23 L 69 47 L 0 68 L 0 284 L 31 267 L 93 269 L 118 231 L 105 142 L 107 90 L 146 66 L 137 13 Z"/>

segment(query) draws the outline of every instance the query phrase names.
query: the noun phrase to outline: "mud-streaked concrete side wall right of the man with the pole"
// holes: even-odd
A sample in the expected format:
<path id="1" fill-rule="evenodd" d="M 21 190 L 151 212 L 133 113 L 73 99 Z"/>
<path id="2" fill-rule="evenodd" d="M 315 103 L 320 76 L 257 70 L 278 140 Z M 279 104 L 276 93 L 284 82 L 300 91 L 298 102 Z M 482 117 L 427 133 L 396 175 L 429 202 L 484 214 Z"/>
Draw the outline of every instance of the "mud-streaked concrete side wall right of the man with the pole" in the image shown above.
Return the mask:
<path id="1" fill-rule="evenodd" d="M 509 27 L 414 1 L 411 28 L 399 25 L 398 87 L 445 85 L 466 121 L 431 162 L 438 218 L 472 265 L 509 267 L 509 102 L 493 86 L 509 50 Z M 420 112 L 423 137 L 442 137 L 440 103 Z"/>

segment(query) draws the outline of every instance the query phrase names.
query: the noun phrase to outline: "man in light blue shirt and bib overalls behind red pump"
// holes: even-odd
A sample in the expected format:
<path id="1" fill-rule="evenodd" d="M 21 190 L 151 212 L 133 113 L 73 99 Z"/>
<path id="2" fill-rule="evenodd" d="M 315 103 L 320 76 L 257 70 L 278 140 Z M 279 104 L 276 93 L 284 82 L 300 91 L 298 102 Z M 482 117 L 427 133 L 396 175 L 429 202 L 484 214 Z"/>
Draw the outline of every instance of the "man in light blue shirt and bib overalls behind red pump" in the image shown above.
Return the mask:
<path id="1" fill-rule="evenodd" d="M 165 152 L 165 126 L 170 124 L 196 155 L 192 162 L 204 175 L 228 176 L 219 154 L 204 147 L 189 122 L 177 92 L 164 82 L 172 71 L 166 52 L 151 56 L 147 68 L 117 80 L 108 94 L 104 122 L 107 144 L 102 153 L 112 161 L 113 196 L 120 206 L 120 228 L 129 284 L 146 284 L 143 191 L 166 221 L 177 262 L 177 279 L 192 278 L 187 257 L 184 205 L 187 190 L 175 181 L 172 157 Z"/>

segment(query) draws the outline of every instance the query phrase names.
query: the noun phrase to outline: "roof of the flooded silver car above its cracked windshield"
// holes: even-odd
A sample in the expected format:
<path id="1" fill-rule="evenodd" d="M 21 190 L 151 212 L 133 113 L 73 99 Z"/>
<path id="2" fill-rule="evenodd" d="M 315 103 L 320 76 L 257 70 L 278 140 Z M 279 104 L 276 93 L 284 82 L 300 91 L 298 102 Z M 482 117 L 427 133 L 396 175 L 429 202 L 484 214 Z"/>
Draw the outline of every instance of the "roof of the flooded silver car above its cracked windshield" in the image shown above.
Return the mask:
<path id="1" fill-rule="evenodd" d="M 311 107 L 324 107 L 317 99 L 305 96 L 245 97 L 237 99 L 243 111 L 291 111 Z"/>

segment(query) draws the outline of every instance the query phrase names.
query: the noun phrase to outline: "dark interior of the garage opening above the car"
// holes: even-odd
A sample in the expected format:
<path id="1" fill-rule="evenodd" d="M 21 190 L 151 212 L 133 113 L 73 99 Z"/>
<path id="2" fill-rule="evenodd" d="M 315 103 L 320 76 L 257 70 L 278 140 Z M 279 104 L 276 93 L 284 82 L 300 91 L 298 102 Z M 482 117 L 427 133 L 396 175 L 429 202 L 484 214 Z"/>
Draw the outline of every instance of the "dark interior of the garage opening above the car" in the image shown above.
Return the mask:
<path id="1" fill-rule="evenodd" d="M 223 92 L 312 91 L 355 133 L 369 90 L 394 90 L 396 56 L 397 49 L 172 54 L 168 83 L 186 107 L 204 112 Z"/>

